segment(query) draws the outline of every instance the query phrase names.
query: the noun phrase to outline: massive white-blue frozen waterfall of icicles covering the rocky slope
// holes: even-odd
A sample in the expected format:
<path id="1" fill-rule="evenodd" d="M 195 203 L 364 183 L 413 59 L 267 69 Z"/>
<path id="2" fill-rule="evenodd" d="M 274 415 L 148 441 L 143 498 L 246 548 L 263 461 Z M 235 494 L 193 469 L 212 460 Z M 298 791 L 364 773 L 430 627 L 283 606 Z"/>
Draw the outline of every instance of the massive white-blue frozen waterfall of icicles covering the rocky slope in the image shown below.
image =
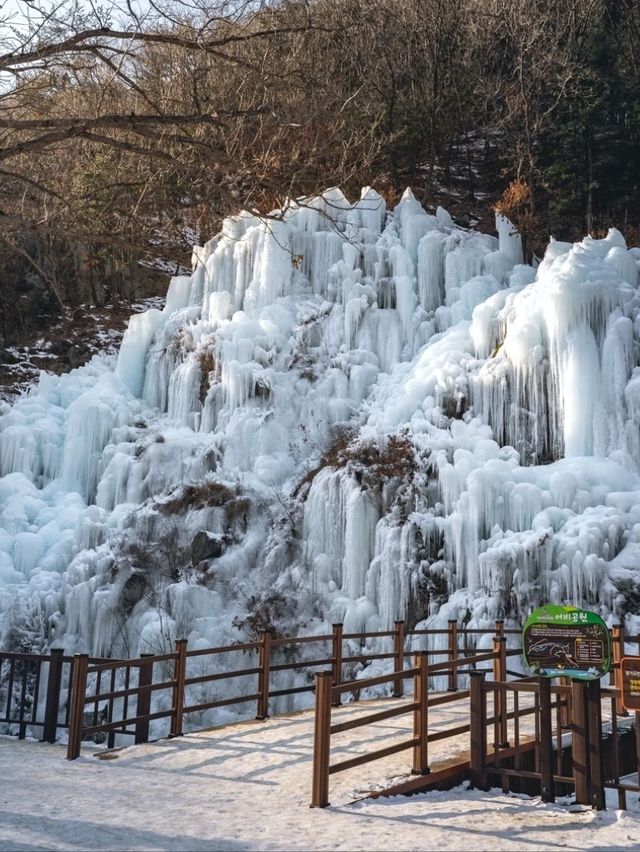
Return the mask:
<path id="1" fill-rule="evenodd" d="M 409 190 L 242 213 L 115 365 L 43 374 L 0 417 L 4 646 L 634 620 L 640 253 L 612 229 L 533 269 L 496 227 Z"/>

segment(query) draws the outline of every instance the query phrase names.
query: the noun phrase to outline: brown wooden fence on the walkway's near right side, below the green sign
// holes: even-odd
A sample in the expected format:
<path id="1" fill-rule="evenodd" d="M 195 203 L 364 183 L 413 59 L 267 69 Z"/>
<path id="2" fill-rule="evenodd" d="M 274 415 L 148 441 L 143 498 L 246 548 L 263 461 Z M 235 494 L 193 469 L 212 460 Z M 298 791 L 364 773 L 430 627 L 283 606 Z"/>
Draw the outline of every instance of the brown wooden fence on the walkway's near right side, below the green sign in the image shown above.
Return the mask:
<path id="1" fill-rule="evenodd" d="M 436 740 L 469 734 L 469 758 L 462 756 L 457 765 L 448 767 L 448 777 L 464 773 L 474 786 L 486 788 L 489 779 L 499 779 L 503 789 L 521 782 L 538 786 L 545 801 L 553 801 L 555 790 L 575 792 L 576 800 L 604 807 L 604 790 L 618 791 L 620 807 L 625 807 L 628 793 L 640 792 L 638 784 L 623 780 L 623 775 L 640 772 L 640 714 L 635 714 L 633 724 L 620 723 L 618 717 L 628 715 L 620 701 L 620 659 L 624 655 L 625 641 L 639 643 L 640 637 L 626 637 L 620 627 L 611 631 L 613 665 L 611 685 L 602 687 L 600 681 L 570 682 L 562 679 L 553 683 L 548 678 L 523 677 L 508 668 L 508 658 L 519 655 L 519 649 L 507 650 L 505 631 L 496 624 L 496 635 L 490 653 L 469 654 L 463 648 L 457 659 L 430 664 L 429 654 L 418 655 L 413 668 L 395 671 L 378 678 L 357 681 L 359 689 L 392 682 L 400 677 L 413 677 L 413 701 L 385 711 L 359 717 L 357 720 L 331 724 L 331 707 L 335 696 L 354 685 L 332 685 L 329 672 L 319 673 L 316 688 L 315 741 L 312 782 L 312 807 L 329 804 L 329 778 L 342 772 L 413 748 L 413 774 L 429 772 L 429 743 Z M 435 652 L 437 653 L 437 652 Z M 405 652 L 406 656 L 406 652 Z M 491 680 L 487 670 L 477 670 L 478 664 L 491 661 Z M 429 693 L 425 684 L 434 675 L 447 673 L 448 691 Z M 469 689 L 457 691 L 458 677 L 469 677 Z M 515 678 L 509 680 L 509 678 Z M 394 694 L 398 694 L 395 692 Z M 399 693 L 401 694 L 401 693 Z M 469 700 L 469 722 L 437 731 L 429 731 L 430 707 L 454 701 Z M 603 714 L 601 704 L 607 705 Z M 331 763 L 331 735 L 356 727 L 413 714 L 412 737 L 392 746 L 363 753 L 339 763 Z M 603 723 L 604 715 L 604 723 Z M 635 738 L 635 748 L 622 745 L 624 737 Z M 462 749 L 465 750 L 464 748 Z M 633 766 L 623 766 L 623 755 L 632 755 Z M 407 767 L 409 769 L 409 767 Z M 398 793 L 428 789 L 432 781 L 405 782 Z"/>

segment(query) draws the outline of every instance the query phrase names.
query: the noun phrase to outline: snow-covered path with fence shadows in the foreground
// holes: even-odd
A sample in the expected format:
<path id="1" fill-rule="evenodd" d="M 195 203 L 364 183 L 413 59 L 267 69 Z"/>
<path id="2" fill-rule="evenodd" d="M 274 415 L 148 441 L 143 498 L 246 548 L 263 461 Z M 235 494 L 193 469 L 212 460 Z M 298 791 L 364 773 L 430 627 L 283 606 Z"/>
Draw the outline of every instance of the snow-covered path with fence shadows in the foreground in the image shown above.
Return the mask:
<path id="1" fill-rule="evenodd" d="M 371 707 L 340 714 L 363 709 Z M 451 724 L 462 707 L 446 713 Z M 397 780 L 408 753 L 332 776 L 332 806 L 311 809 L 312 722 L 312 713 L 247 722 L 108 760 L 85 747 L 73 763 L 60 745 L 0 738 L 0 850 L 638 848 L 637 802 L 626 812 L 612 802 L 598 814 L 462 788 L 354 801 Z M 364 736 L 369 748 L 382 747 L 404 737 L 403 723 L 390 720 Z M 347 749 L 357 752 L 338 741 L 333 754 Z M 434 748 L 432 765 L 448 754 L 450 746 Z"/>

